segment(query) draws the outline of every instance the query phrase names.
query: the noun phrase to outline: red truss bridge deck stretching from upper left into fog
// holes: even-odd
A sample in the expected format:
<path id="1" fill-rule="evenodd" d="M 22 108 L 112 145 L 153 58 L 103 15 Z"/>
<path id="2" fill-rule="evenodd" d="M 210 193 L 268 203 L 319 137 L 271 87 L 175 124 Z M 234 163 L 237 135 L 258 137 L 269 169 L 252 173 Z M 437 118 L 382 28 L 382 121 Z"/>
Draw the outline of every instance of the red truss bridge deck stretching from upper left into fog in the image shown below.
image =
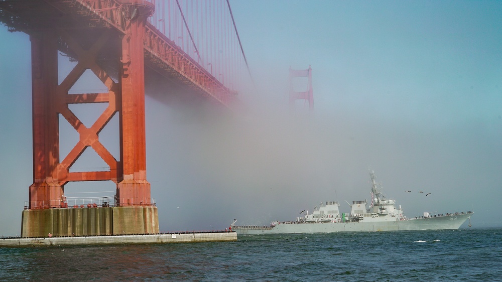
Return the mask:
<path id="1" fill-rule="evenodd" d="M 128 21 L 128 5 L 119 5 L 116 0 L 3 0 L 0 1 L 0 22 L 10 31 L 27 34 L 44 28 L 64 29 L 81 33 L 81 38 L 89 38 L 90 33 L 103 29 L 124 36 Z M 130 10 L 129 10 L 130 11 Z M 83 41 L 83 45 L 90 45 Z M 60 42 L 59 50 L 72 57 L 66 43 Z M 147 23 L 145 33 L 145 65 L 159 73 L 169 83 L 184 88 L 211 102 L 232 108 L 236 101 L 236 91 L 232 91 L 208 73 L 173 41 L 163 35 L 153 25 Z M 115 58 L 113 58 L 115 57 Z M 77 59 L 77 58 L 73 58 Z M 115 70 L 120 62 L 116 54 L 103 50 L 103 69 Z M 112 73 L 112 71 L 110 71 Z"/>

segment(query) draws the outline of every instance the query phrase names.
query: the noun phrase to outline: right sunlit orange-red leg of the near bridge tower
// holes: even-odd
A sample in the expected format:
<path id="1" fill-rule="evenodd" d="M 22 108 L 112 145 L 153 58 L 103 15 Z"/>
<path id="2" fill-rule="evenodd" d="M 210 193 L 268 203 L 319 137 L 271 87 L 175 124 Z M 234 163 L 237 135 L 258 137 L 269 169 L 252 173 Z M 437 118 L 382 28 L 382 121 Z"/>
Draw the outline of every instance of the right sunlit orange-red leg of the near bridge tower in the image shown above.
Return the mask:
<path id="1" fill-rule="evenodd" d="M 118 205 L 150 203 L 145 145 L 145 21 L 134 21 L 122 38 L 122 115 L 120 159 L 123 179 L 118 183 Z"/>

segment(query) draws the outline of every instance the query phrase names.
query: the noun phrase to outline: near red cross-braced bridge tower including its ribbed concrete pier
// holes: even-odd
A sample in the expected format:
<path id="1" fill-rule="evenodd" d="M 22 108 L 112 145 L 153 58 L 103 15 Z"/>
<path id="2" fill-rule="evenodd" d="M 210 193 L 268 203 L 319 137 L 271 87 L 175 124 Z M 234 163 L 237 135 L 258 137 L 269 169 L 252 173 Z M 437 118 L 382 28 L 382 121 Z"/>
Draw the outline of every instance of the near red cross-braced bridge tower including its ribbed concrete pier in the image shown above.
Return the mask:
<path id="1" fill-rule="evenodd" d="M 133 6 L 132 11 L 135 7 Z M 46 28 L 30 35 L 32 42 L 33 176 L 30 202 L 23 211 L 23 237 L 158 233 L 158 214 L 146 179 L 145 67 L 146 16 L 151 7 L 141 6 L 131 17 L 126 32 Z M 151 11 L 150 11 L 151 12 Z M 135 14 L 135 13 L 131 13 Z M 96 36 L 98 35 L 98 36 Z M 113 35 L 113 36 L 110 36 Z M 118 35 L 118 36 L 115 36 Z M 97 37 L 97 39 L 96 39 Z M 62 44 L 64 42 L 64 44 Z M 68 76 L 58 82 L 58 50 L 68 49 L 78 59 Z M 114 82 L 98 58 L 120 58 Z M 118 66 L 118 67 L 117 67 Z M 68 94 L 68 90 L 90 69 L 108 87 L 108 93 Z M 91 127 L 71 112 L 69 104 L 108 103 Z M 120 160 L 99 142 L 99 132 L 115 113 L 119 114 Z M 78 132 L 80 139 L 60 161 L 59 116 Z M 92 148 L 109 171 L 70 172 L 87 148 Z M 71 181 L 116 183 L 114 205 L 68 207 L 64 185 Z"/>

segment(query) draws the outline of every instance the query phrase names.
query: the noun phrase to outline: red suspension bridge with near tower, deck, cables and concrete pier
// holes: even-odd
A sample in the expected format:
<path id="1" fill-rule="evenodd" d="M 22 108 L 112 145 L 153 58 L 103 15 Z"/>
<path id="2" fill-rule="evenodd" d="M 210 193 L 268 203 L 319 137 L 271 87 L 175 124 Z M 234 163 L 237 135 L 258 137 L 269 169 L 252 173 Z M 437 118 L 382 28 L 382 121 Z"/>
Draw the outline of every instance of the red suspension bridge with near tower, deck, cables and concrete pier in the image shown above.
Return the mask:
<path id="1" fill-rule="evenodd" d="M 145 89 L 238 108 L 239 90 L 253 81 L 229 1 L 0 0 L 0 22 L 31 42 L 34 180 L 22 236 L 158 233 L 146 179 Z M 76 62 L 60 83 L 58 53 Z M 87 70 L 107 91 L 69 92 Z M 291 99 L 299 98 L 309 99 Z M 92 103 L 107 107 L 87 127 L 70 105 Z M 99 140 L 115 115 L 118 159 Z M 67 156 L 60 156 L 60 118 L 79 135 Z M 88 148 L 109 169 L 70 171 Z M 92 206 L 93 215 L 68 206 L 64 186 L 74 181 L 112 181 L 115 199 Z"/>

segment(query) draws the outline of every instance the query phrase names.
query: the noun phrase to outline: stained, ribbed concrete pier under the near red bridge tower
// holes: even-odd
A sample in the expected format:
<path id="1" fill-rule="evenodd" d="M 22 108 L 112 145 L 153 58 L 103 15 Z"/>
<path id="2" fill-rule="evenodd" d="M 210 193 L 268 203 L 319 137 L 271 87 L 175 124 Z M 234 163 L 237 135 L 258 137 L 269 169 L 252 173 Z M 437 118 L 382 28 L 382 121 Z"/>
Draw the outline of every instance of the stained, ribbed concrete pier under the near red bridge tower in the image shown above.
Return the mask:
<path id="1" fill-rule="evenodd" d="M 27 209 L 21 237 L 157 234 L 157 207 Z"/>

